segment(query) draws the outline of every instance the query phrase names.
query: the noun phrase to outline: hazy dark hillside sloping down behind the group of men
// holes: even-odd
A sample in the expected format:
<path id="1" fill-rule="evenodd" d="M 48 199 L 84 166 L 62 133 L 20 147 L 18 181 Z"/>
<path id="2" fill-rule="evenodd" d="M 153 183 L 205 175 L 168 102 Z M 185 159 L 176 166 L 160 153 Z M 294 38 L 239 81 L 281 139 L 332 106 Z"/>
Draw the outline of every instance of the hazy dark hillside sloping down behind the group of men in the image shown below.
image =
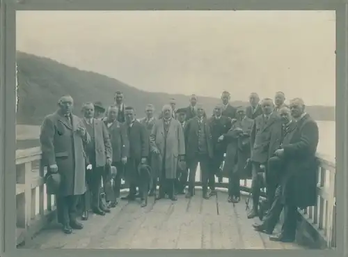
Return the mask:
<path id="1" fill-rule="evenodd" d="M 168 103 L 169 98 L 177 100 L 177 107 L 189 104 L 187 95 L 169 95 L 167 93 L 150 93 L 129 86 L 122 81 L 112 79 L 95 72 L 86 72 L 63 65 L 51 59 L 17 52 L 19 106 L 17 123 L 40 125 L 42 119 L 56 110 L 56 102 L 62 95 L 70 94 L 74 98 L 74 113 L 80 115 L 84 102 L 100 100 L 104 105 L 113 102 L 115 91 L 122 91 L 125 103 L 132 104 L 138 117 L 142 117 L 146 104 L 155 105 L 157 112 Z M 163 88 L 166 91 L 166 88 Z M 199 95 L 199 94 L 198 94 Z M 200 97 L 210 114 L 217 98 Z M 232 105 L 246 105 L 247 102 L 232 102 Z M 312 106 L 308 113 L 317 120 L 335 120 L 334 107 Z"/>

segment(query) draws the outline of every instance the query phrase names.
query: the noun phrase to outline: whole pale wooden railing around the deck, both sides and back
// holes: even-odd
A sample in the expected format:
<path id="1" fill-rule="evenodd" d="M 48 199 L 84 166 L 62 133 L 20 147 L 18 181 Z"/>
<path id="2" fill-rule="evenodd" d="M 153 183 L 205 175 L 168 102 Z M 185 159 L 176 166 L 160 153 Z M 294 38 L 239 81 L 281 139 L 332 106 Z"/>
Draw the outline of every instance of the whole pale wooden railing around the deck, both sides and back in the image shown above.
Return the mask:
<path id="1" fill-rule="evenodd" d="M 40 148 L 17 150 L 17 244 L 30 240 L 55 216 L 54 196 L 45 191 L 45 168 L 41 164 Z M 313 226 L 329 248 L 335 247 L 335 163 L 318 155 L 317 205 L 299 210 L 304 219 Z M 197 172 L 196 185 L 200 185 Z M 250 180 L 241 181 L 242 190 L 248 191 Z M 228 179 L 216 183 L 216 187 L 228 187 Z"/>

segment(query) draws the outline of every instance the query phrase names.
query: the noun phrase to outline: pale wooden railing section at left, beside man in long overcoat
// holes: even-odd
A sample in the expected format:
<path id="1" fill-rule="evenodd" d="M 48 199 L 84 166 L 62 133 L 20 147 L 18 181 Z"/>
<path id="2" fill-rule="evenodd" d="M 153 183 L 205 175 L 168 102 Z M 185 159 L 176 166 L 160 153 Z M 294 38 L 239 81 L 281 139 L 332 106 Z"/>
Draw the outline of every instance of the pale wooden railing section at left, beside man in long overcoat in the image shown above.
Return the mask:
<path id="1" fill-rule="evenodd" d="M 47 196 L 40 147 L 16 152 L 17 245 L 30 240 L 54 218 L 54 196 Z"/>

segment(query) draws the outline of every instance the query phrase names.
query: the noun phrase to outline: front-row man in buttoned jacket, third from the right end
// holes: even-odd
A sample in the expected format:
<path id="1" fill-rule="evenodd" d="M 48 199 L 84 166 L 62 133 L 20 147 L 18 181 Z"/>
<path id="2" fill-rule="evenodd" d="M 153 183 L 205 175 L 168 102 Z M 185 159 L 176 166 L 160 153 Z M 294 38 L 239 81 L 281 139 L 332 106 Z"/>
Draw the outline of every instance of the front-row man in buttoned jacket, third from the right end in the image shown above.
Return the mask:
<path id="1" fill-rule="evenodd" d="M 279 116 L 274 113 L 274 103 L 270 98 L 264 98 L 261 102 L 263 114 L 256 117 L 251 130 L 251 169 L 253 195 L 253 208 L 248 213 L 248 219 L 258 216 L 258 203 L 260 200 L 260 173 L 264 172 L 269 159 L 269 143 L 273 127 L 279 124 Z"/>

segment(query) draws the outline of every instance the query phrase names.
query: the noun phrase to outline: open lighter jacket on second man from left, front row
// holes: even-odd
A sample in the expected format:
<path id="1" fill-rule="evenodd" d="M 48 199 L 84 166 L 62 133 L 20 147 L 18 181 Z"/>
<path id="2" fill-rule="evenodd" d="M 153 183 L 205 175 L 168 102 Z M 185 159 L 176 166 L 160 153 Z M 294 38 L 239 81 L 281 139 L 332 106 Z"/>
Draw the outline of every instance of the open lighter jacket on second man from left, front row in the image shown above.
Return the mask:
<path id="1" fill-rule="evenodd" d="M 84 125 L 87 126 L 86 120 L 83 119 Z M 95 166 L 102 167 L 106 164 L 106 157 L 112 159 L 112 148 L 109 137 L 109 132 L 102 122 L 93 118 L 94 127 L 94 139 L 95 139 Z M 89 146 L 86 146 L 88 149 Z M 87 153 L 87 163 L 90 163 L 90 155 L 93 153 Z"/>

